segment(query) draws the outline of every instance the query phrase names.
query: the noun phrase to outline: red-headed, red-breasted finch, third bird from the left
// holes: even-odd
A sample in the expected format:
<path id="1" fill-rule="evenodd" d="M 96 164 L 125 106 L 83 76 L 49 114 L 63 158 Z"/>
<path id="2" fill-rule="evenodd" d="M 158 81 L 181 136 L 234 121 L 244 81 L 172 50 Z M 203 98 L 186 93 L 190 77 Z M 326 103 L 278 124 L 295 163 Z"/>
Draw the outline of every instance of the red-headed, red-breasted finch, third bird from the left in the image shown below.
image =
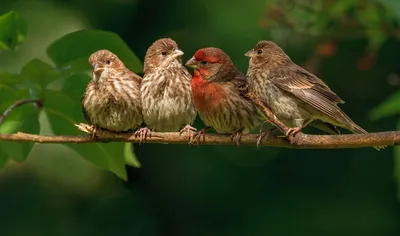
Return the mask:
<path id="1" fill-rule="evenodd" d="M 263 120 L 246 96 L 246 77 L 219 48 L 198 50 L 186 66 L 194 68 L 194 103 L 206 125 L 197 133 L 197 141 L 212 127 L 218 133 L 232 134 L 232 141 L 239 145 L 242 133 L 250 132 Z"/>

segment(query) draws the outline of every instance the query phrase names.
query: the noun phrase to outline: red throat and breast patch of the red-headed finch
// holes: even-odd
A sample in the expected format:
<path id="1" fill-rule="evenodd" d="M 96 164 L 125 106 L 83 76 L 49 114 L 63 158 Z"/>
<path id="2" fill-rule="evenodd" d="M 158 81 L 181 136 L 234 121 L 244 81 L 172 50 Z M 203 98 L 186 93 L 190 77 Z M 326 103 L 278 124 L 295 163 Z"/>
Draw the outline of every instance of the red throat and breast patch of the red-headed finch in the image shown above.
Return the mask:
<path id="1" fill-rule="evenodd" d="M 225 98 L 223 88 L 217 83 L 203 79 L 198 70 L 194 70 L 192 93 L 199 112 L 217 109 Z"/>

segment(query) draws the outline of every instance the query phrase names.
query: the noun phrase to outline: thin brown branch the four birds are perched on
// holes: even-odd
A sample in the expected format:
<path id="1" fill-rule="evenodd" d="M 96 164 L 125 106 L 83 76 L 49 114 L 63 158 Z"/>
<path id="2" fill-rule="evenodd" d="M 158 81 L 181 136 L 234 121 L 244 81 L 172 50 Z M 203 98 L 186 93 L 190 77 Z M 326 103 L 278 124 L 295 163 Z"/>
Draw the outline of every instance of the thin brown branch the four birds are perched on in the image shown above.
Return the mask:
<path id="1" fill-rule="evenodd" d="M 78 128 L 84 132 L 91 132 L 91 126 L 79 124 Z M 132 142 L 138 143 L 134 132 L 114 133 L 105 130 L 97 131 L 98 137 L 92 138 L 90 135 L 81 136 L 49 136 L 35 135 L 18 132 L 16 134 L 0 134 L 0 141 L 9 142 L 36 142 L 36 143 L 96 143 L 103 141 L 113 142 Z M 298 136 L 301 135 L 301 139 Z M 258 139 L 256 134 L 246 134 L 242 136 L 242 145 L 255 146 Z M 169 144 L 188 144 L 189 137 L 186 134 L 180 135 L 178 132 L 172 133 L 152 133 L 147 138 L 146 143 L 169 143 Z M 313 149 L 332 149 L 332 148 L 362 148 L 372 146 L 395 146 L 400 144 L 400 132 L 380 132 L 369 134 L 342 134 L 342 135 L 307 135 L 299 133 L 296 135 L 295 144 L 290 144 L 285 137 L 270 136 L 262 140 L 260 146 L 285 147 L 285 148 L 313 148 Z M 146 145 L 146 144 L 143 144 Z M 232 145 L 230 135 L 207 134 L 205 141 L 200 141 L 200 145 Z"/>

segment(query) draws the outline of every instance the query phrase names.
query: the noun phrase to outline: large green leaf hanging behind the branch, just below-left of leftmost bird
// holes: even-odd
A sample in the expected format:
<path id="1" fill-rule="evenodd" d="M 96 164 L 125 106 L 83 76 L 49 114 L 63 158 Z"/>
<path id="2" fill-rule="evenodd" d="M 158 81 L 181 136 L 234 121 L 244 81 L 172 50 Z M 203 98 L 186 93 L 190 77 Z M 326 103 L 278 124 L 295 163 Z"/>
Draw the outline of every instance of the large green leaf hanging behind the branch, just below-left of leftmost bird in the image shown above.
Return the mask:
<path id="1" fill-rule="evenodd" d="M 73 100 L 65 94 L 45 90 L 44 110 L 49 119 L 50 126 L 56 135 L 83 135 L 74 124 L 84 122 L 80 101 Z M 91 163 L 114 172 L 121 179 L 126 180 L 124 160 L 124 143 L 91 143 L 91 144 L 66 144 L 68 147 L 82 155 Z"/>

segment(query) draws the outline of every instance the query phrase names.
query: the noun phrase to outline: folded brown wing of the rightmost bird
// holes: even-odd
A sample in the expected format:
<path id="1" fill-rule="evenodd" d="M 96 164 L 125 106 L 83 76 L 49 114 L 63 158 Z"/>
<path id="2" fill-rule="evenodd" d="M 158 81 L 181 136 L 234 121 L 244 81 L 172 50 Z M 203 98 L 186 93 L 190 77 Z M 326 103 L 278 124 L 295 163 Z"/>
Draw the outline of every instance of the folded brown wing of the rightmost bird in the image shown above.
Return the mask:
<path id="1" fill-rule="evenodd" d="M 271 81 L 280 89 L 288 91 L 315 109 L 340 123 L 355 125 L 337 106 L 344 103 L 330 88 L 315 75 L 299 66 L 270 70 Z"/>

